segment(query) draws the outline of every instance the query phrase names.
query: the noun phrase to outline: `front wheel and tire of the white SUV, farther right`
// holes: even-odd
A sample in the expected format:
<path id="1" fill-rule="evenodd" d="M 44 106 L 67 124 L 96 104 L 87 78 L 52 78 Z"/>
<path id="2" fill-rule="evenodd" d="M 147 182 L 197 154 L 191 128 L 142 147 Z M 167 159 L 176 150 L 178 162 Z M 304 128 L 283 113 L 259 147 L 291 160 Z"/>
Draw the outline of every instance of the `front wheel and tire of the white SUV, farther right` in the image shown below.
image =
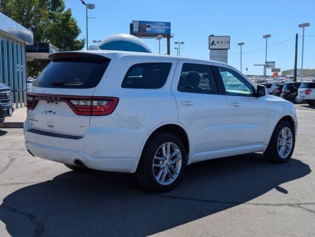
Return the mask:
<path id="1" fill-rule="evenodd" d="M 293 125 L 288 121 L 282 120 L 274 128 L 264 155 L 273 163 L 284 163 L 291 158 L 294 145 L 295 135 Z"/>

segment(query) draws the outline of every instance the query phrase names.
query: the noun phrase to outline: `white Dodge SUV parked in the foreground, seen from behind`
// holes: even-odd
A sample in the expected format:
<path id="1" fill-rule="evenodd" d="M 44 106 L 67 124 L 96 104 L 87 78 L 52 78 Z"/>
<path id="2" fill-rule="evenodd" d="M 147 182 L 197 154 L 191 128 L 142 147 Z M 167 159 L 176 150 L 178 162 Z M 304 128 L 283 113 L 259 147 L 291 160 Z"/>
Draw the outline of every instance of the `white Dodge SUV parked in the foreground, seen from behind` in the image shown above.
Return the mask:
<path id="1" fill-rule="evenodd" d="M 227 64 L 103 50 L 49 58 L 27 95 L 25 144 L 36 157 L 135 173 L 163 192 L 194 162 L 293 153 L 294 105 Z"/>

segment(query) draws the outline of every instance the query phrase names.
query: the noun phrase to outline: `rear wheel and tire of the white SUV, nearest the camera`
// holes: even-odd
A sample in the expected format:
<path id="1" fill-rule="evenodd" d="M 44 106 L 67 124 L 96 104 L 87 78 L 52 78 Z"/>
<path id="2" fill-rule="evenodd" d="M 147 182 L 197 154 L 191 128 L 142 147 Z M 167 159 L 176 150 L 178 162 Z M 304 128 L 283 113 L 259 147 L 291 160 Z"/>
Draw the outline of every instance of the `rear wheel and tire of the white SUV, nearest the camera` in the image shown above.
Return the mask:
<path id="1" fill-rule="evenodd" d="M 135 177 L 139 186 L 153 192 L 172 190 L 183 176 L 186 152 L 180 139 L 161 133 L 144 147 Z"/>

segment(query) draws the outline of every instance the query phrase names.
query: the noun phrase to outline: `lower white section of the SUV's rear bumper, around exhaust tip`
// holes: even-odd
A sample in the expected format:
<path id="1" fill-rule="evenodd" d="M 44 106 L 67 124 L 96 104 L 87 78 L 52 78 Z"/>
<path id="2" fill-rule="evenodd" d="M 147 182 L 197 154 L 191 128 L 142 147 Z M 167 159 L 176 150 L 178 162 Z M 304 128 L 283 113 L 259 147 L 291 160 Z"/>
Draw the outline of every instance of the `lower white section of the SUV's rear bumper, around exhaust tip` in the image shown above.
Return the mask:
<path id="1" fill-rule="evenodd" d="M 25 146 L 35 157 L 75 165 L 80 160 L 90 169 L 134 173 L 138 164 L 136 158 L 93 158 L 79 151 L 66 150 L 26 141 Z"/>

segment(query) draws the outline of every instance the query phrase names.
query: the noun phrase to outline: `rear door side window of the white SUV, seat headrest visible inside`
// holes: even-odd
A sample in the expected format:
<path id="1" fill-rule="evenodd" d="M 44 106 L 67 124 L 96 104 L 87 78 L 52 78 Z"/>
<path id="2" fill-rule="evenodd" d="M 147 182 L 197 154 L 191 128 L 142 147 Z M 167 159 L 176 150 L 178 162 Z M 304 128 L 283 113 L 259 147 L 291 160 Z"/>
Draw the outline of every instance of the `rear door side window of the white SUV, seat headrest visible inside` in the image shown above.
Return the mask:
<path id="1" fill-rule="evenodd" d="M 211 66 L 184 63 L 181 68 L 178 90 L 191 93 L 217 94 L 217 85 Z"/>

